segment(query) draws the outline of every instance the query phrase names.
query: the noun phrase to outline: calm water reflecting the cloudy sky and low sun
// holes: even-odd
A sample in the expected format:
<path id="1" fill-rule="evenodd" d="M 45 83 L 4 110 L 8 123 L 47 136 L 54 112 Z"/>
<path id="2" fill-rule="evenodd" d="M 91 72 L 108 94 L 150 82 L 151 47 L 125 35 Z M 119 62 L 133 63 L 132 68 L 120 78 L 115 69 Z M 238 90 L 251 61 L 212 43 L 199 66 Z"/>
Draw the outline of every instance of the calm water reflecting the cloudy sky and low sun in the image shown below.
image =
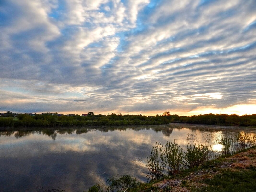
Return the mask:
<path id="1" fill-rule="evenodd" d="M 31 128 L 30 128 L 31 129 Z M 82 192 L 109 176 L 129 174 L 147 182 L 147 155 L 156 142 L 209 143 L 255 129 L 170 124 L 159 126 L 58 128 L 0 132 L 0 191 L 60 188 Z M 185 150 L 186 151 L 186 150 Z"/>

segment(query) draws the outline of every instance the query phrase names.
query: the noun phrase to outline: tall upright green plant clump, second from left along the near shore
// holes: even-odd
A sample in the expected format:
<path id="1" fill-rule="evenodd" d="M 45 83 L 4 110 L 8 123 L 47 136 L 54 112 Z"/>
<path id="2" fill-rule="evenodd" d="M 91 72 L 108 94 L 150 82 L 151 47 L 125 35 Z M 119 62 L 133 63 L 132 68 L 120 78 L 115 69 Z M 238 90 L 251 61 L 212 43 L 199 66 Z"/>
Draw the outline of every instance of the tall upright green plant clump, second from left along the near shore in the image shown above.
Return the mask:
<path id="1" fill-rule="evenodd" d="M 175 141 L 166 143 L 164 149 L 164 162 L 167 163 L 167 173 L 175 175 L 184 169 L 184 152 Z"/>

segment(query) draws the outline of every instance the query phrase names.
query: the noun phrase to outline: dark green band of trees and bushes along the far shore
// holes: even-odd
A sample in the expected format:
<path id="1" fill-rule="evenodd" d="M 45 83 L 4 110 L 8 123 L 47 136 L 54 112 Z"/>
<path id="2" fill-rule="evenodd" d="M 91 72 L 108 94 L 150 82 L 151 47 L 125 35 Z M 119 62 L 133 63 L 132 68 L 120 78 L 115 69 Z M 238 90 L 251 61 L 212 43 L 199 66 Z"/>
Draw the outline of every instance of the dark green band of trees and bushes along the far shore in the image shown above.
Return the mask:
<path id="1" fill-rule="evenodd" d="M 162 115 L 156 114 L 153 117 L 143 115 L 122 115 L 111 113 L 110 115 L 94 115 L 91 112 L 88 116 L 58 116 L 46 114 L 13 114 L 7 111 L 0 115 L 0 127 L 31 127 L 31 126 L 90 126 L 90 125 L 161 125 L 169 123 L 191 123 L 207 125 L 231 125 L 231 126 L 256 126 L 256 114 L 204 114 L 192 116 L 171 115 L 165 111 Z"/>

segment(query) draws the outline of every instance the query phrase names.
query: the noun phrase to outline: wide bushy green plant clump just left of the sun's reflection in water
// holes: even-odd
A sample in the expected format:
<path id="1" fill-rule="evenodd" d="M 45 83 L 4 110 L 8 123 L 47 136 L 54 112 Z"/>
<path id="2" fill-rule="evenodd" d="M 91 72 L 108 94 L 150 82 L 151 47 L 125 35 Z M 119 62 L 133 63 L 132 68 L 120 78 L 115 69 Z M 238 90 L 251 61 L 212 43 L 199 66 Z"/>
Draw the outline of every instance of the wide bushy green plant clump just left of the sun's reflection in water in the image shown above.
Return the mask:
<path id="1" fill-rule="evenodd" d="M 185 153 L 185 165 L 189 168 L 203 165 L 213 157 L 213 151 L 210 145 L 196 145 L 192 148 L 187 145 L 187 153 Z"/>

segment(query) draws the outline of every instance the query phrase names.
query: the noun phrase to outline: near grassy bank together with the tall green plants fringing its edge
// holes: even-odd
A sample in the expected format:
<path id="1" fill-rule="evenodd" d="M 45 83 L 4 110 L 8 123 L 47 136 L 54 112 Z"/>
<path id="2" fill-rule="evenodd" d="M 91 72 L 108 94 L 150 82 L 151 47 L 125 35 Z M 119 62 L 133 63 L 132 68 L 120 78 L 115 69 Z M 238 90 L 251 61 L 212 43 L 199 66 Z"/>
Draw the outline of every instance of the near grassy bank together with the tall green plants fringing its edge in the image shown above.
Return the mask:
<path id="1" fill-rule="evenodd" d="M 138 182 L 131 176 L 110 177 L 106 184 L 96 184 L 88 192 L 255 192 L 256 136 L 241 132 L 236 136 L 222 137 L 218 143 L 223 148 L 215 159 L 212 159 L 213 153 L 207 144 L 187 145 L 185 152 L 175 142 L 165 146 L 156 143 L 147 156 L 149 183 Z"/>

